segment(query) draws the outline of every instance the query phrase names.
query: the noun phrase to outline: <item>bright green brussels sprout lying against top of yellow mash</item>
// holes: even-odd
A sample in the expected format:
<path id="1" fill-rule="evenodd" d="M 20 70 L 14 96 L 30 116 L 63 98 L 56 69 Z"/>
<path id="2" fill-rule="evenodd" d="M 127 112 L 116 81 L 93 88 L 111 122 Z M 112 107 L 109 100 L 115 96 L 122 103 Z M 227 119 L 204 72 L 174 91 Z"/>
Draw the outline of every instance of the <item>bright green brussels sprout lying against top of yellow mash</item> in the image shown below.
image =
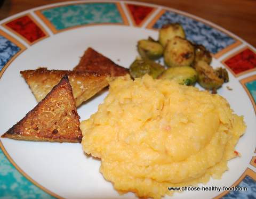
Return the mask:
<path id="1" fill-rule="evenodd" d="M 196 83 L 197 72 L 191 67 L 173 67 L 164 71 L 157 79 L 170 79 L 190 86 Z"/>

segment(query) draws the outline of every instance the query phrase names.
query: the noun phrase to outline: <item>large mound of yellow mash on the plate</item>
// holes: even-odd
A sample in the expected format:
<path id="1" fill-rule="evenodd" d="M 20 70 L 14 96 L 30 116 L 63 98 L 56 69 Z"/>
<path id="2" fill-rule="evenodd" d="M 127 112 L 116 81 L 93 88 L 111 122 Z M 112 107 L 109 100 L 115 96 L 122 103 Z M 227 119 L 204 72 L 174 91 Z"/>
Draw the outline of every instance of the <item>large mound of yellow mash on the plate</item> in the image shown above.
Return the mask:
<path id="1" fill-rule="evenodd" d="M 220 178 L 245 124 L 218 94 L 145 75 L 111 82 L 81 129 L 84 151 L 120 194 L 161 198 L 167 187 Z"/>

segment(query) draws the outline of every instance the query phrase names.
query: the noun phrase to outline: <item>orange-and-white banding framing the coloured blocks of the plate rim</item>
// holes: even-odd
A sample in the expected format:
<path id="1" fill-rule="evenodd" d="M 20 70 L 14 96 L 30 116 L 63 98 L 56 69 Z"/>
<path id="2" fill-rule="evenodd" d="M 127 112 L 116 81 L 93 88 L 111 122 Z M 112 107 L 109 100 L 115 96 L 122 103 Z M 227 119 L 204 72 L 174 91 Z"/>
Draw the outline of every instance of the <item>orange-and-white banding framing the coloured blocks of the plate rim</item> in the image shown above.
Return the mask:
<path id="1" fill-rule="evenodd" d="M 167 7 L 167 6 L 152 4 L 152 3 L 145 3 L 145 2 L 136 2 L 136 1 L 117 1 L 117 0 L 67 1 L 67 2 L 52 3 L 52 4 L 47 4 L 47 5 L 43 5 L 43 6 L 34 7 L 33 9 L 29 9 L 29 10 L 26 10 L 26 11 L 19 12 L 17 14 L 11 15 L 11 16 L 9 16 L 9 17 L 0 21 L 0 35 L 7 36 L 7 39 L 10 39 L 11 42 L 13 42 L 14 44 L 18 44 L 18 47 L 21 48 L 20 51 L 18 53 L 16 53 L 15 55 L 13 55 L 11 57 L 11 59 L 5 63 L 4 67 L 2 69 L 0 69 L 0 79 L 1 79 L 2 75 L 4 74 L 5 70 L 11 64 L 11 62 L 15 58 L 17 58 L 20 54 L 22 54 L 24 51 L 26 51 L 26 49 L 28 49 L 31 45 L 33 45 L 37 42 L 41 42 L 45 38 L 46 39 L 50 38 L 53 35 L 58 34 L 59 32 L 62 32 L 62 31 L 69 31 L 69 30 L 72 30 L 72 29 L 75 29 L 75 28 L 85 27 L 85 26 L 95 26 L 95 24 L 85 24 L 85 25 L 83 24 L 81 26 L 75 26 L 75 27 L 66 28 L 66 29 L 63 29 L 63 30 L 60 30 L 60 31 L 58 30 L 58 31 L 54 32 L 52 30 L 52 28 L 49 27 L 48 24 L 38 14 L 38 13 L 40 13 L 40 11 L 46 10 L 46 9 L 51 9 L 53 7 L 60 7 L 60 6 L 65 6 L 65 5 L 87 4 L 87 3 L 115 3 L 116 5 L 119 5 L 120 7 L 118 7 L 118 9 L 122 10 L 122 11 L 120 11 L 120 10 L 119 11 L 123 12 L 123 13 L 121 13 L 121 18 L 124 20 L 123 25 L 124 26 L 129 26 L 129 27 L 138 27 L 138 28 L 142 28 L 142 29 L 143 28 L 145 28 L 145 29 L 154 29 L 153 25 L 160 18 L 160 16 L 162 16 L 165 11 L 172 11 L 174 13 L 184 15 L 184 16 L 186 16 L 188 18 L 191 18 L 191 19 L 194 19 L 196 21 L 200 21 L 204 24 L 209 25 L 210 27 L 212 27 L 214 29 L 218 29 L 221 32 L 224 32 L 225 34 L 227 34 L 228 36 L 230 36 L 230 37 L 232 37 L 236 40 L 236 42 L 234 43 L 235 44 L 234 47 L 232 47 L 231 49 L 226 49 L 228 47 L 225 47 L 225 48 L 223 48 L 223 49 L 226 49 L 225 52 L 223 52 L 222 54 L 220 54 L 218 56 L 214 56 L 215 59 L 220 61 L 228 69 L 229 69 L 228 65 L 226 65 L 224 62 L 226 60 L 228 60 L 231 56 L 234 56 L 235 54 L 238 54 L 239 52 L 242 52 L 243 49 L 245 49 L 245 48 L 252 49 L 252 51 L 254 53 L 256 52 L 254 46 L 247 43 L 244 39 L 242 39 L 241 37 L 238 37 L 237 35 L 233 34 L 229 30 L 227 30 L 225 28 L 222 28 L 218 24 L 215 24 L 211 21 L 205 20 L 205 19 L 203 19 L 199 16 L 196 16 L 194 14 L 190 14 L 188 12 L 181 11 L 181 10 L 178 10 L 178 9 L 173 9 L 172 7 Z M 129 13 L 130 11 L 127 9 L 127 4 L 150 6 L 150 7 L 153 7 L 153 11 L 151 11 L 151 14 L 144 21 L 142 21 L 140 26 L 137 26 L 134 23 L 133 19 L 132 19 L 131 13 Z M 13 31 L 11 28 L 6 26 L 6 23 L 8 23 L 9 21 L 18 19 L 23 15 L 31 16 L 31 18 L 33 20 L 35 20 L 34 22 L 39 26 L 39 28 L 41 28 L 44 31 L 45 37 L 42 37 L 41 39 L 36 40 L 36 42 L 29 42 L 26 38 L 24 38 L 24 37 L 22 38 L 22 36 L 19 36 L 17 33 L 15 33 L 15 31 Z M 159 15 L 159 17 L 158 17 L 158 15 Z M 125 21 L 125 18 L 126 18 L 126 21 Z M 96 25 L 102 26 L 102 23 L 99 23 L 99 24 L 96 24 Z M 118 23 L 114 24 L 114 26 L 116 26 L 116 25 L 118 25 Z M 256 72 L 255 72 L 256 68 L 253 69 L 253 70 L 249 70 L 249 71 L 238 73 L 238 74 L 235 74 L 231 69 L 229 69 L 229 71 L 233 74 L 233 76 L 236 78 L 236 80 L 239 81 L 241 83 L 241 85 L 243 86 L 244 90 L 246 91 L 248 97 L 250 98 L 250 100 L 251 100 L 251 102 L 254 106 L 254 111 L 255 111 L 255 114 L 256 114 L 255 102 L 253 101 L 253 97 L 252 97 L 252 95 L 250 95 L 249 90 L 245 86 L 245 83 L 247 82 L 247 79 L 252 79 L 252 78 L 254 78 L 254 76 L 255 76 L 255 79 L 256 79 Z M 255 80 L 255 79 L 253 79 L 253 80 Z M 33 183 L 34 185 L 36 185 L 40 189 L 44 190 L 44 192 L 46 192 L 46 193 L 48 193 L 48 194 L 50 194 L 54 197 L 63 198 L 63 197 L 51 192 L 49 189 L 43 187 L 42 185 L 39 185 L 36 180 L 32 179 L 27 173 L 22 171 L 22 169 L 19 167 L 19 165 L 14 162 L 12 157 L 6 151 L 1 139 L 0 139 L 0 147 L 1 147 L 1 150 L 3 151 L 3 153 L 5 154 L 5 156 L 7 157 L 7 159 L 13 164 L 15 169 L 17 169 L 23 176 L 25 176 L 29 181 L 31 181 L 31 183 Z M 256 152 L 256 150 L 254 151 L 254 153 L 255 152 Z M 255 158 L 255 154 L 252 156 L 252 160 L 253 160 L 253 158 Z M 253 165 L 253 167 L 255 167 L 255 166 Z M 251 171 L 247 171 L 247 170 L 251 170 L 251 169 L 249 167 L 247 167 L 247 169 L 244 171 L 242 176 L 246 175 L 246 172 L 251 172 Z M 254 173 L 253 174 L 254 180 L 256 180 L 256 177 L 255 177 L 256 173 L 255 173 L 255 171 L 252 171 L 252 172 Z M 234 185 L 237 185 L 240 182 L 240 181 L 238 182 L 238 180 L 234 183 Z M 219 198 L 219 197 L 222 197 L 226 194 L 227 193 L 222 192 L 219 195 L 215 196 L 214 198 Z"/>

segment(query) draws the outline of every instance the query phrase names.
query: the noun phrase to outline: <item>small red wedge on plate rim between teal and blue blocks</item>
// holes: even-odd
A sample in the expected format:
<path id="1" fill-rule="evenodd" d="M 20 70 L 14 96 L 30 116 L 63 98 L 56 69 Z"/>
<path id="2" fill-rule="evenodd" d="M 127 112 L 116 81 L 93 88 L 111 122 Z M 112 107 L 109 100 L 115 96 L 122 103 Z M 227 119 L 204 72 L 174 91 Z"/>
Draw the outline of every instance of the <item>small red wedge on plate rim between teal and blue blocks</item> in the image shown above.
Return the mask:
<path id="1" fill-rule="evenodd" d="M 153 7 L 127 4 L 128 9 L 131 12 L 133 20 L 137 26 L 148 16 L 153 10 Z"/>

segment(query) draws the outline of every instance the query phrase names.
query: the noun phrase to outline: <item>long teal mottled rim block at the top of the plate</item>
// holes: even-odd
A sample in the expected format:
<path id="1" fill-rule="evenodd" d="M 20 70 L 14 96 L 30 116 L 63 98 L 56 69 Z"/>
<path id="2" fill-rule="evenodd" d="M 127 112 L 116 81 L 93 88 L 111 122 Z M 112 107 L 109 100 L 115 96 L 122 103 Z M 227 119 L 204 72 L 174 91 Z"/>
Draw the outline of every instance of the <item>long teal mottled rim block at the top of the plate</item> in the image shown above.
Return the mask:
<path id="1" fill-rule="evenodd" d="M 91 23 L 123 23 L 115 3 L 65 5 L 41 12 L 57 30 Z"/>

